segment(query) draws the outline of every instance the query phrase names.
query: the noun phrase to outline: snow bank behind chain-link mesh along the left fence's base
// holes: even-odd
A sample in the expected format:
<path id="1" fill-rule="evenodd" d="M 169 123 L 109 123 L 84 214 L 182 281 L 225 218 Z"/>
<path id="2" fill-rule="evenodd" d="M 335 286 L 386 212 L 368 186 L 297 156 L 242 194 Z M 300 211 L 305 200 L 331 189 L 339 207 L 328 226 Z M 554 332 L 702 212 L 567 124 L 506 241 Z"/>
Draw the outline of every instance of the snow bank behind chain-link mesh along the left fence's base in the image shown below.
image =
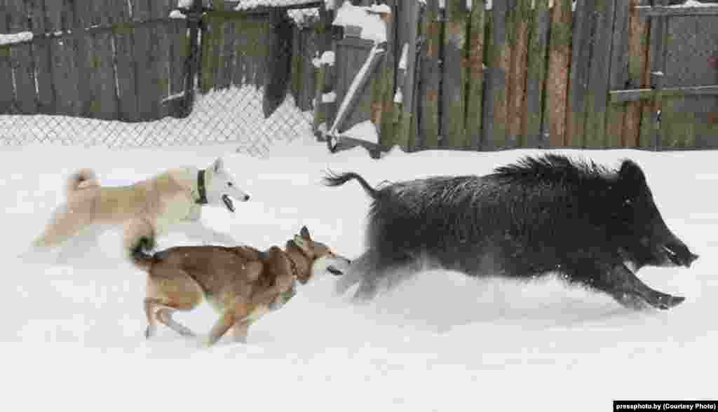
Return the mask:
<path id="1" fill-rule="evenodd" d="M 181 93 L 168 95 L 177 98 Z M 308 131 L 312 113 L 300 112 L 292 95 L 264 121 L 263 89 L 253 86 L 197 93 L 187 118 L 166 117 L 154 122 L 121 123 L 92 118 L 61 116 L 0 116 L 0 150 L 17 142 L 47 141 L 62 144 L 128 146 L 174 146 L 177 144 L 235 143 L 250 153 L 261 154 L 276 141 L 291 140 L 298 131 Z M 218 116 L 217 111 L 223 111 Z M 47 125 L 52 124 L 52 128 Z M 206 131 L 215 130 L 208 135 Z"/>

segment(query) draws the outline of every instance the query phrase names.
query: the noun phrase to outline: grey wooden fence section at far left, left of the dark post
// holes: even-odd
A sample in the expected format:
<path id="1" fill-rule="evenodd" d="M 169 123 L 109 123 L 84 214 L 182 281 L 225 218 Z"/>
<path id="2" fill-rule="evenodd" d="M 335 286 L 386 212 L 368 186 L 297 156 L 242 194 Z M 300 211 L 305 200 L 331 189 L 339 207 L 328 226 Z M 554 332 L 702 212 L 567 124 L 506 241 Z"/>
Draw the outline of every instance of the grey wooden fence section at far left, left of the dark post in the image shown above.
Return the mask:
<path id="1" fill-rule="evenodd" d="M 167 18 L 174 0 L 4 4 L 0 33 L 33 38 L 0 46 L 0 114 L 144 121 L 167 115 L 184 88 L 187 26 Z"/>

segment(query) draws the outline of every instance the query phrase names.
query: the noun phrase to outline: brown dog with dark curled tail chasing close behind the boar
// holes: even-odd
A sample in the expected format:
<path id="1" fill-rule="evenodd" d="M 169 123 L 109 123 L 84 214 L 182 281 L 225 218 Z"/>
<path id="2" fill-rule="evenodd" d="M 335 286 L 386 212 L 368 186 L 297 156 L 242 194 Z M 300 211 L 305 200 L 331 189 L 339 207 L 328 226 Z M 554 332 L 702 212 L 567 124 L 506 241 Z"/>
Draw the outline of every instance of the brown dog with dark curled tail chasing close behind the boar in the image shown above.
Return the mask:
<path id="1" fill-rule="evenodd" d="M 172 319 L 172 312 L 195 309 L 204 297 L 221 314 L 210 330 L 208 345 L 230 328 L 236 340 L 246 342 L 250 324 L 292 299 L 297 280 L 306 284 L 325 271 L 341 275 L 349 265 L 348 259 L 312 240 L 306 227 L 286 242 L 284 251 L 277 246 L 267 251 L 248 246 L 182 246 L 154 256 L 144 253 L 153 243 L 151 238 L 141 238 L 131 248 L 132 262 L 149 275 L 145 336 L 154 334 L 156 321 L 183 336 L 193 336 Z"/>

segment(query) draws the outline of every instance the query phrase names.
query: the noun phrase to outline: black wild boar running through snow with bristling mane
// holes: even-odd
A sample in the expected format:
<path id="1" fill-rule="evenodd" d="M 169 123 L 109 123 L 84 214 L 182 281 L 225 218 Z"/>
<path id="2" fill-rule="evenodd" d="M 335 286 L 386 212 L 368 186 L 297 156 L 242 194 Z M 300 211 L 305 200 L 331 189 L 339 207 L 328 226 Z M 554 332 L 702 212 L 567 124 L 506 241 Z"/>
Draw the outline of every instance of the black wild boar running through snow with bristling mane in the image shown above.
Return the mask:
<path id="1" fill-rule="evenodd" d="M 668 309 L 684 301 L 653 290 L 633 271 L 690 266 L 698 258 L 668 229 L 638 164 L 610 170 L 546 154 L 486 176 L 431 177 L 371 187 L 368 250 L 338 284 L 355 297 L 376 295 L 380 281 L 439 266 L 470 276 L 531 278 L 558 272 L 604 291 L 625 306 Z M 396 270 L 402 269 L 402 270 Z"/>

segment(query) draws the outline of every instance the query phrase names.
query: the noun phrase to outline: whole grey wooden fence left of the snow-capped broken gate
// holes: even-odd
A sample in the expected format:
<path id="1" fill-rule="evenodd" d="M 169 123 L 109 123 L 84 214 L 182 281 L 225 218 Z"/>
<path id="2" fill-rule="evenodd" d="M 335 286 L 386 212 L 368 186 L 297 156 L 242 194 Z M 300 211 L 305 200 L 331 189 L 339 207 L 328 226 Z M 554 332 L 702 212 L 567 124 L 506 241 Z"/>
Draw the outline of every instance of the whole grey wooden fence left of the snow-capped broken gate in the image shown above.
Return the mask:
<path id="1" fill-rule="evenodd" d="M 184 116 L 190 65 L 203 93 L 266 85 L 269 114 L 289 85 L 302 110 L 312 106 L 317 30 L 279 18 L 288 7 L 232 11 L 236 1 L 215 1 L 217 10 L 202 17 L 197 61 L 190 62 L 187 20 L 169 18 L 177 0 L 0 4 L 6 6 L 0 34 L 32 32 L 32 39 L 0 45 L 0 115 L 131 122 Z"/>

